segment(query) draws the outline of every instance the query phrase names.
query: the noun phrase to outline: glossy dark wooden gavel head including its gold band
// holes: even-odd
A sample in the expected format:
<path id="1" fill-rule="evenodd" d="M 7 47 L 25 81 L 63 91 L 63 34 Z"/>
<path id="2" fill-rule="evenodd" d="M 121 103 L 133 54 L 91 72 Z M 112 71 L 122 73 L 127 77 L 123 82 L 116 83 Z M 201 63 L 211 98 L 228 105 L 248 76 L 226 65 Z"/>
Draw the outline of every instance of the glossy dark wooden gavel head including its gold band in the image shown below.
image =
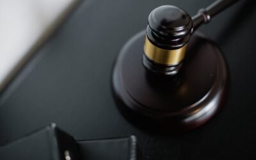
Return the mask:
<path id="1" fill-rule="evenodd" d="M 159 6 L 148 17 L 143 65 L 164 75 L 177 74 L 193 30 L 191 17 L 170 5 Z"/>

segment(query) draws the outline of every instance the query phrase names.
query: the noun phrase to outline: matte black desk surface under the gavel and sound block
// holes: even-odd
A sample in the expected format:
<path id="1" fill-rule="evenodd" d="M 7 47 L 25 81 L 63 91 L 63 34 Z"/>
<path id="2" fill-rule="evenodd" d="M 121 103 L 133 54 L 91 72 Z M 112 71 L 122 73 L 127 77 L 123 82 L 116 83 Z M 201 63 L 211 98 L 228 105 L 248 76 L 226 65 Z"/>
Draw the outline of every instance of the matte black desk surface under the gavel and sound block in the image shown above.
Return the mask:
<path id="1" fill-rule="evenodd" d="M 111 93 L 122 45 L 147 26 L 148 13 L 173 4 L 193 15 L 212 1 L 88 0 L 77 6 L 0 97 L 0 145 L 49 122 L 77 140 L 134 134 L 143 159 L 256 158 L 256 10 L 241 1 L 200 30 L 220 46 L 230 70 L 225 107 L 202 127 L 180 134 L 125 119 Z"/>

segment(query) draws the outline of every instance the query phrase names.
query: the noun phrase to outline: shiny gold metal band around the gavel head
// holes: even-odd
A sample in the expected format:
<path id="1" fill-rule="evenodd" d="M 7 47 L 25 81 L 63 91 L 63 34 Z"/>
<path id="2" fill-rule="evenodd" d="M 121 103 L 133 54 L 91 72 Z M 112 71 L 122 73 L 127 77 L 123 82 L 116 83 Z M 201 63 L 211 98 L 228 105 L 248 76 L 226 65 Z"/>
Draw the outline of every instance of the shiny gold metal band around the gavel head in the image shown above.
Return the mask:
<path id="1" fill-rule="evenodd" d="M 146 36 L 145 45 L 144 45 L 144 53 L 150 58 L 152 61 L 163 65 L 177 65 L 180 61 L 183 60 L 185 56 L 187 45 L 184 45 L 180 49 L 161 49 L 153 45 Z"/>

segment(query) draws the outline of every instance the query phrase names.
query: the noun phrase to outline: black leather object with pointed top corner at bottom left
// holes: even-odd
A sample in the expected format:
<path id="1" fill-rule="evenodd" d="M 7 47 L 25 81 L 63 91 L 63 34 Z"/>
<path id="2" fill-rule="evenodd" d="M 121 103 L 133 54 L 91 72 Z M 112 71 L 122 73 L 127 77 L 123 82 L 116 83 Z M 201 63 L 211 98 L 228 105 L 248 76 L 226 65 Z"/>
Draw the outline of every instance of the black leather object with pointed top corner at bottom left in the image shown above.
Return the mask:
<path id="1" fill-rule="evenodd" d="M 56 124 L 49 124 L 0 148 L 1 160 L 63 160 L 66 156 L 80 160 L 78 145 Z"/>

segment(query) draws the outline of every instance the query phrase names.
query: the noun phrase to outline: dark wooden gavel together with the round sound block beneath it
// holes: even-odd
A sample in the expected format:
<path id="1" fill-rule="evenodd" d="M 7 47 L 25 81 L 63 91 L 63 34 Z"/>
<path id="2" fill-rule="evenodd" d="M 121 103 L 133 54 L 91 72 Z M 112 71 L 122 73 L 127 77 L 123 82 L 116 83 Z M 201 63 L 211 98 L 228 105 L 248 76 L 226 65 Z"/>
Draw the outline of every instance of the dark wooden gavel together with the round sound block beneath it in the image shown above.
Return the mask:
<path id="1" fill-rule="evenodd" d="M 127 118 L 189 130 L 220 110 L 227 97 L 227 63 L 196 29 L 235 2 L 216 1 L 193 17 L 171 5 L 150 13 L 147 29 L 127 41 L 113 67 L 113 93 Z"/>

